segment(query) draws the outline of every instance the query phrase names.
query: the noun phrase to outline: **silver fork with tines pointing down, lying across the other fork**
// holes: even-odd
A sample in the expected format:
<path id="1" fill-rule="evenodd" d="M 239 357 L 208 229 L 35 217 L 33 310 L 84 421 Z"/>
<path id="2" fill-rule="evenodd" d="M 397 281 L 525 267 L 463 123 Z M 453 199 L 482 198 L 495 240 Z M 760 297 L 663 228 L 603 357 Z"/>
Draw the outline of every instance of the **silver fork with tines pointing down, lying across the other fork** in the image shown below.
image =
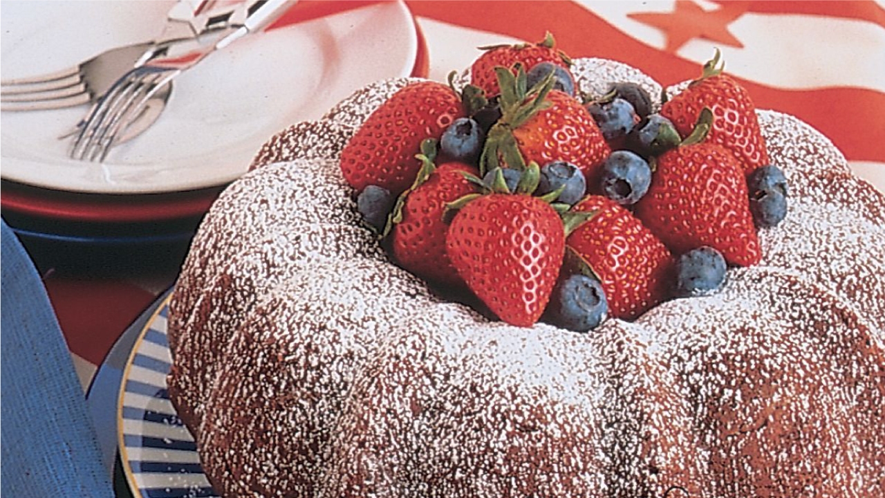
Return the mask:
<path id="1" fill-rule="evenodd" d="M 179 44 L 165 57 L 151 58 L 115 82 L 81 121 L 68 155 L 75 160 L 104 161 L 112 146 L 120 142 L 145 105 L 173 79 L 195 66 L 213 51 L 267 26 L 288 10 L 287 0 L 252 0 L 238 9 L 240 19 L 228 19 L 227 27 Z M 210 38 L 206 43 L 204 38 Z M 187 45 L 190 45 L 189 47 Z M 182 52 L 181 49 L 185 50 Z M 174 52 L 174 53 L 173 53 Z"/>

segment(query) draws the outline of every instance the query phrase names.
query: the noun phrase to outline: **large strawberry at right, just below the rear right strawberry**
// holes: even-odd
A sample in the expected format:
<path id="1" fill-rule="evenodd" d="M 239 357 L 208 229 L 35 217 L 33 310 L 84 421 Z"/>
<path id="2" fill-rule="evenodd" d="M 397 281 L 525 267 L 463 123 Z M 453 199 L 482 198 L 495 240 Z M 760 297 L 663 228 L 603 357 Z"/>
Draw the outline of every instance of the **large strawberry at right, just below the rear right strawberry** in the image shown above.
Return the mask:
<path id="1" fill-rule="evenodd" d="M 762 253 L 747 183 L 735 156 L 704 140 L 704 122 L 712 119 L 704 110 L 699 132 L 658 156 L 649 191 L 636 203 L 635 214 L 673 253 L 709 245 L 729 264 L 753 265 Z"/>

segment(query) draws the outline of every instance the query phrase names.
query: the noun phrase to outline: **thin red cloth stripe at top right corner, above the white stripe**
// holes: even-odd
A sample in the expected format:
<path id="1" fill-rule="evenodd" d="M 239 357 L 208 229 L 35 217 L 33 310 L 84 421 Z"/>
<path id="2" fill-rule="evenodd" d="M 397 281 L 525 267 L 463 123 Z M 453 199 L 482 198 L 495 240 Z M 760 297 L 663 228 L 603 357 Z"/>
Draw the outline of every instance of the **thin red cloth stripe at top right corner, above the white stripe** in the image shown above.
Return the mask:
<path id="1" fill-rule="evenodd" d="M 728 2 L 717 1 L 716 4 L 726 5 Z M 804 14 L 826 16 L 840 19 L 866 20 L 885 27 L 885 9 L 875 2 L 867 0 L 818 0 L 815 2 L 769 1 L 747 2 L 747 12 L 759 14 Z"/>

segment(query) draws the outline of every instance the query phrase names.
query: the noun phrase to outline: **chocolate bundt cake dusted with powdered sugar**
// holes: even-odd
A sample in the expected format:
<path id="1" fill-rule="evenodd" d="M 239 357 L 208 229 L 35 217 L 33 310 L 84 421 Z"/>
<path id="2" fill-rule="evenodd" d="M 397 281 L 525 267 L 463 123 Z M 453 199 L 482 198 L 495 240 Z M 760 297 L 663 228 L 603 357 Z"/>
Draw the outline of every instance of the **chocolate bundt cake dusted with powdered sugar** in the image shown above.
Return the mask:
<path id="1" fill-rule="evenodd" d="M 661 94 L 617 62 L 572 71 L 590 95 Z M 410 82 L 274 136 L 196 235 L 168 386 L 219 493 L 885 495 L 885 196 L 826 137 L 758 112 L 789 215 L 720 292 L 589 333 L 516 327 L 361 225 L 340 152 Z"/>

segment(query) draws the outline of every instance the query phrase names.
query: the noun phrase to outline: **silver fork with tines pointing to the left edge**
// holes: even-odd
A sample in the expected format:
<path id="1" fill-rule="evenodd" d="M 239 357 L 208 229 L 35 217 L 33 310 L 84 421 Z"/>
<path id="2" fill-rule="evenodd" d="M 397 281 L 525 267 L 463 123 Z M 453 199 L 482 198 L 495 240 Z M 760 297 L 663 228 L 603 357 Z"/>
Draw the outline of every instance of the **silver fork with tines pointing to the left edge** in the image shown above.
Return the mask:
<path id="1" fill-rule="evenodd" d="M 111 89 L 120 74 L 165 51 L 168 44 L 196 36 L 205 19 L 199 14 L 210 12 L 214 3 L 179 0 L 166 14 L 163 31 L 153 41 L 104 51 L 61 71 L 0 81 L 0 110 L 37 111 L 93 104 Z"/>

